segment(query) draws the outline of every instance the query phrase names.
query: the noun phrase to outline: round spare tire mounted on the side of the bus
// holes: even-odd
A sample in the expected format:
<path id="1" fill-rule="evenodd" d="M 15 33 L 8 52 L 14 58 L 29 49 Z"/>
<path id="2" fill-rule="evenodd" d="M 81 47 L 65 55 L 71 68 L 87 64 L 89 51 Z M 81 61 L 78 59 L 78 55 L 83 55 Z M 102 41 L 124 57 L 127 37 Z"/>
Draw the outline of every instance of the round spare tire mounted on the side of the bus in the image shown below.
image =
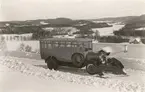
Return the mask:
<path id="1" fill-rule="evenodd" d="M 84 65 L 85 59 L 82 54 L 74 54 L 72 56 L 72 63 L 77 68 L 82 68 Z"/>

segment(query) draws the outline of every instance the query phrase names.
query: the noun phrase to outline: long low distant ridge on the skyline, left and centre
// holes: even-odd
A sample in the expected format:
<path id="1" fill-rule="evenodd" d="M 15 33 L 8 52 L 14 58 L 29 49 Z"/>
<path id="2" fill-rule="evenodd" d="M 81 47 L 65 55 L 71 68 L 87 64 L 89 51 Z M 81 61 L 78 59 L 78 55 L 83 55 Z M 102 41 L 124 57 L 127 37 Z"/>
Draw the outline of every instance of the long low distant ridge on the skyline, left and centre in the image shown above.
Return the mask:
<path id="1" fill-rule="evenodd" d="M 56 19 L 37 19 L 37 20 L 26 20 L 26 21 L 4 21 L 0 22 L 0 27 L 5 24 L 10 25 L 37 25 L 37 26 L 47 26 L 47 27 L 68 27 L 68 26 L 81 26 L 83 24 L 89 25 L 93 28 L 109 27 L 107 23 L 94 23 L 88 20 L 72 20 L 69 18 L 56 18 Z"/>

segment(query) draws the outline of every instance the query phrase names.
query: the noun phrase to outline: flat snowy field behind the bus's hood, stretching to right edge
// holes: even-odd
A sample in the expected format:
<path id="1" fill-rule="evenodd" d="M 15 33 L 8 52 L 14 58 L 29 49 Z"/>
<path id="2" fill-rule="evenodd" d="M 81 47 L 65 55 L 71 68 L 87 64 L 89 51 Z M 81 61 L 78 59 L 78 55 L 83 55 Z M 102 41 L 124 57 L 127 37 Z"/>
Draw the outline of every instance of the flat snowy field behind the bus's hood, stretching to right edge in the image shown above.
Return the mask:
<path id="1" fill-rule="evenodd" d="M 127 52 L 124 53 L 125 45 L 127 45 Z M 122 58 L 145 59 L 145 45 L 144 44 L 128 44 L 128 43 L 94 43 L 93 50 L 98 51 L 102 47 L 109 46 L 113 49 L 111 56 Z"/>

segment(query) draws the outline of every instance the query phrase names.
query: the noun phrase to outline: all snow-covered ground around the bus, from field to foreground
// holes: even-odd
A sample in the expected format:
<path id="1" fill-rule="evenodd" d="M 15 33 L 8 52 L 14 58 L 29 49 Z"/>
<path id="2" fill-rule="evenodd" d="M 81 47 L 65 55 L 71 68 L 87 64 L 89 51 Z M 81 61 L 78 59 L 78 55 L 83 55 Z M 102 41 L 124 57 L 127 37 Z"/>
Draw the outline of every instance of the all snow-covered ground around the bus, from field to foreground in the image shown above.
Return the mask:
<path id="1" fill-rule="evenodd" d="M 111 56 L 123 63 L 129 75 L 106 73 L 105 78 L 99 78 L 85 69 L 49 70 L 39 54 L 17 51 L 21 43 L 39 49 L 39 41 L 6 43 L 7 51 L 0 51 L 0 92 L 145 92 L 145 45 L 127 44 L 128 52 L 124 53 L 124 44 L 95 43 L 96 51 L 113 47 Z"/>

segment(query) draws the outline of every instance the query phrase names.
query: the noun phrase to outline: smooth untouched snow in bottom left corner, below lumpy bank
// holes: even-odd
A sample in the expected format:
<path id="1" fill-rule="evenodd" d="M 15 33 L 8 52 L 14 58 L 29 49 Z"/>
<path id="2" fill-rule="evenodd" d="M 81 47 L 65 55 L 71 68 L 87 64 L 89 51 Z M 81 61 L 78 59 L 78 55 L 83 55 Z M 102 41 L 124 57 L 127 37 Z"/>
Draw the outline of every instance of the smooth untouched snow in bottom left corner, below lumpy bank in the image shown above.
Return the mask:
<path id="1" fill-rule="evenodd" d="M 106 92 L 106 90 L 113 92 L 105 87 L 28 76 L 0 64 L 0 92 Z"/>

